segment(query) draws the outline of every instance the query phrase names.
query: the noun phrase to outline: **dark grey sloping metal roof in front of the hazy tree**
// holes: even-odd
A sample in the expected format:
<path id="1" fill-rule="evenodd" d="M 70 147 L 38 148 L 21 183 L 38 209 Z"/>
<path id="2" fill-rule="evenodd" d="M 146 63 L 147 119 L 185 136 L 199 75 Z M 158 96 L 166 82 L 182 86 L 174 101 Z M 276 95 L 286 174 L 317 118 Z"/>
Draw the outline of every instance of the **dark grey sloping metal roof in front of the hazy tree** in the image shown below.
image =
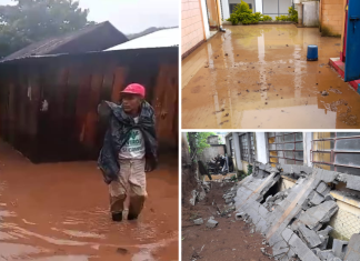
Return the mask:
<path id="1" fill-rule="evenodd" d="M 122 32 L 106 21 L 63 37 L 32 43 L 6 57 L 1 62 L 33 56 L 102 51 L 127 41 L 128 38 Z"/>

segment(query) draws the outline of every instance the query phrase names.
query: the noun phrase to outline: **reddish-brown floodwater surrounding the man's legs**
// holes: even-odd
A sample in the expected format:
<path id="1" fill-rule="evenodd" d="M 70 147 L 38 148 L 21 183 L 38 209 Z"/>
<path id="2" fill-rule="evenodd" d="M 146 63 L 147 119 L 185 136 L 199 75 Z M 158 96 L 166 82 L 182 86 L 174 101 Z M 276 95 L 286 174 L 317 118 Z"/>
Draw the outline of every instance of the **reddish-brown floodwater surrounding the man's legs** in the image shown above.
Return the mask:
<path id="1" fill-rule="evenodd" d="M 138 221 L 113 223 L 96 162 L 32 164 L 0 142 L 0 260 L 178 260 L 178 162 L 147 174 Z"/>

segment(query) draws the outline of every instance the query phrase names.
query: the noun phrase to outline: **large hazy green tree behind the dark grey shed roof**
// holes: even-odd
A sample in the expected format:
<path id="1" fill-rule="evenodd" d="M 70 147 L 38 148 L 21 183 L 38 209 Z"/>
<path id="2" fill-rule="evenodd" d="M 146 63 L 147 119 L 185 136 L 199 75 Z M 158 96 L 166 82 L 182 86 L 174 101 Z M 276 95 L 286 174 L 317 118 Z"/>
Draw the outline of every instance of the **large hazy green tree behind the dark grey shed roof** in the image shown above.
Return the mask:
<path id="1" fill-rule="evenodd" d="M 0 57 L 33 42 L 77 31 L 94 22 L 73 0 L 13 0 L 0 7 Z"/>

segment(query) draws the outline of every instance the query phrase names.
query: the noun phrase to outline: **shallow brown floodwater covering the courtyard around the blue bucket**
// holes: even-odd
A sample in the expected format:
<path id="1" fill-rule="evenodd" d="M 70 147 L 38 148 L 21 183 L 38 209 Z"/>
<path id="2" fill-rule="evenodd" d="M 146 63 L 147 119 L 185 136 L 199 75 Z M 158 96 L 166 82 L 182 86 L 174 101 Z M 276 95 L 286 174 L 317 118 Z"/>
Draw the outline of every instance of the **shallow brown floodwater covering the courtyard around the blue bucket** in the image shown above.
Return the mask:
<path id="1" fill-rule="evenodd" d="M 339 38 L 293 24 L 226 29 L 182 61 L 182 128 L 359 128 L 360 96 L 328 66 Z M 319 61 L 307 61 L 309 44 Z"/>

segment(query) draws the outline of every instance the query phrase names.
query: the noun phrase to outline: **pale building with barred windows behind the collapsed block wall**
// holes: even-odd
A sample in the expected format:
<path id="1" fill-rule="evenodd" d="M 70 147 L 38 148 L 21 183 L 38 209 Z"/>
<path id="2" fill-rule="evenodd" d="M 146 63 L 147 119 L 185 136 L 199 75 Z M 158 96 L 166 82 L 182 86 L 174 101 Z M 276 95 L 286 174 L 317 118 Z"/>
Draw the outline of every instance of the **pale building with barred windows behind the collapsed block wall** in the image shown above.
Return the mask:
<path id="1" fill-rule="evenodd" d="M 254 161 L 263 164 L 306 165 L 359 175 L 360 132 L 231 132 L 227 134 L 227 150 L 232 151 L 237 170 L 247 173 Z M 297 179 L 281 174 L 277 191 L 296 185 Z M 351 197 L 349 197 L 351 194 Z M 339 211 L 330 220 L 331 237 L 349 240 L 360 230 L 360 191 L 338 182 L 331 195 Z"/>

